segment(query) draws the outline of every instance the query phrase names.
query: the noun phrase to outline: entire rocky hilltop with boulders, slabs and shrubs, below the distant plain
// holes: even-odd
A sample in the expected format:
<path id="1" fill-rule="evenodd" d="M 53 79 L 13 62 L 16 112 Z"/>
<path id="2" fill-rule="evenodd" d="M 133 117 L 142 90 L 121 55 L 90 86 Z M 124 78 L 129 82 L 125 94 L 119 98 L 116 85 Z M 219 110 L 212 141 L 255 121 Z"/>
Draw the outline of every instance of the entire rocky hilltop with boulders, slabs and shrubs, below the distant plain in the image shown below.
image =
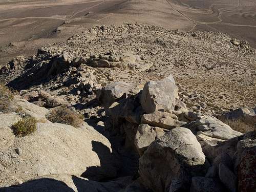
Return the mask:
<path id="1" fill-rule="evenodd" d="M 97 26 L 0 69 L 0 191 L 252 192 L 256 54 Z"/>

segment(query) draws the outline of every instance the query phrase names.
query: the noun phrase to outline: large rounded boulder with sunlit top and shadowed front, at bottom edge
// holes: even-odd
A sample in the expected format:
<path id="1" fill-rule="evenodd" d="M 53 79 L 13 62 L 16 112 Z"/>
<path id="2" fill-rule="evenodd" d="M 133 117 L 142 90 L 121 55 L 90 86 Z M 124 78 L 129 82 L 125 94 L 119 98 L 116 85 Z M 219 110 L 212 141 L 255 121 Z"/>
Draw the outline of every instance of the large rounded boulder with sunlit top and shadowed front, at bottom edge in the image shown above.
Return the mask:
<path id="1" fill-rule="evenodd" d="M 148 146 L 139 159 L 139 174 L 153 191 L 187 191 L 191 178 L 204 176 L 208 166 L 196 136 L 177 127 Z"/>

